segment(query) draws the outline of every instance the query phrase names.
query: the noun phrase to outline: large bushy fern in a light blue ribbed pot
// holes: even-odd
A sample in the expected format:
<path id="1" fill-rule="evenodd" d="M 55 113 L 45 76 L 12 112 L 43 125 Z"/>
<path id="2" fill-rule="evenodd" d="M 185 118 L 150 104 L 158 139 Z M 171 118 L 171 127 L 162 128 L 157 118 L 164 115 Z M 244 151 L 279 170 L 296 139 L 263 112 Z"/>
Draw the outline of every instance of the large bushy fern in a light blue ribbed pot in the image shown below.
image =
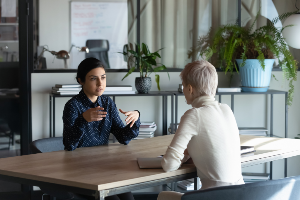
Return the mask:
<path id="1" fill-rule="evenodd" d="M 226 24 L 219 27 L 215 34 L 210 29 L 207 35 L 200 37 L 197 46 L 192 48 L 188 55 L 191 57 L 199 53 L 199 56 L 213 62 L 214 66 L 223 69 L 225 73 L 230 71 L 231 75 L 233 69 L 238 72 L 235 64 L 237 63 L 242 89 L 250 92 L 268 90 L 274 57 L 276 57 L 284 73 L 283 76 L 289 81 L 287 102 L 291 105 L 294 92 L 292 82 L 297 80 L 298 61 L 294 60 L 281 34 L 282 30 L 288 27 L 276 28 L 274 24 L 295 12 L 282 14 L 252 33 L 259 13 L 249 28 Z"/>

